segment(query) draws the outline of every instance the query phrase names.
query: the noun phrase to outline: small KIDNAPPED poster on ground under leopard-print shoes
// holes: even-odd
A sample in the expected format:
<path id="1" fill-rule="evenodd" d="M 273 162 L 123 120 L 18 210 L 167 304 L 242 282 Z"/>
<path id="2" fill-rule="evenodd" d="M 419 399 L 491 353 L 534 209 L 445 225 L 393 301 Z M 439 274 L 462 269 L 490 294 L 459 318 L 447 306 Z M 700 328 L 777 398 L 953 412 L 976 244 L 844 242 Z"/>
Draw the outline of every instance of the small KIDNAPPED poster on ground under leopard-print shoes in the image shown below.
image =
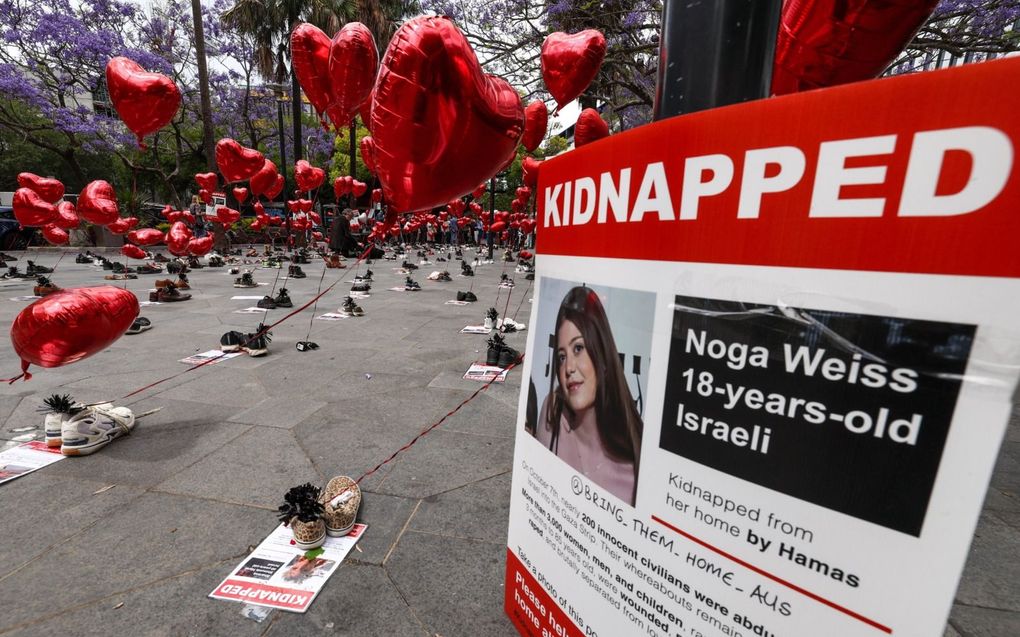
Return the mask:
<path id="1" fill-rule="evenodd" d="M 309 560 L 305 551 L 291 544 L 291 529 L 279 525 L 209 596 L 304 613 L 366 528 L 356 524 L 344 537 L 326 537 L 322 552 Z"/>

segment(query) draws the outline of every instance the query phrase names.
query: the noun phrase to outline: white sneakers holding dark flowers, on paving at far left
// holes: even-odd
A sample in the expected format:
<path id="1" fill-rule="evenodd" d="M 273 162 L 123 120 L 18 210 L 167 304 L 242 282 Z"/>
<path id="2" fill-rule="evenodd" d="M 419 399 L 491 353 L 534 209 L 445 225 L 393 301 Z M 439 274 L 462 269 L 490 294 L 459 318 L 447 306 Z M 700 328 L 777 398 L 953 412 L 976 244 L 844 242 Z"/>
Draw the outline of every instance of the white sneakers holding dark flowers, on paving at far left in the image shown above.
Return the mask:
<path id="1" fill-rule="evenodd" d="M 46 445 L 64 456 L 89 456 L 135 428 L 135 414 L 111 403 L 82 405 L 69 395 L 44 401 L 49 413 L 43 423 Z"/>

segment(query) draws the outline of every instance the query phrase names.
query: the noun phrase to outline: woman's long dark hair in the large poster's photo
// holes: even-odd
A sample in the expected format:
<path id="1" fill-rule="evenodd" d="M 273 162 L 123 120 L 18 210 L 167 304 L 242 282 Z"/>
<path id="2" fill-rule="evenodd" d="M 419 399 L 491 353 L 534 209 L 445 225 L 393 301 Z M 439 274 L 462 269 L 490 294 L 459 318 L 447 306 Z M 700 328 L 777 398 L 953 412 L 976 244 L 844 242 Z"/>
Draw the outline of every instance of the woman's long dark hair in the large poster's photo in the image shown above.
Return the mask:
<path id="1" fill-rule="evenodd" d="M 584 339 L 584 348 L 595 365 L 598 380 L 595 416 L 602 446 L 611 458 L 633 463 L 634 492 L 636 493 L 638 465 L 641 459 L 641 436 L 644 425 L 623 375 L 623 365 L 620 363 L 620 356 L 616 351 L 616 342 L 613 340 L 613 332 L 609 327 L 606 310 L 602 307 L 602 302 L 595 290 L 579 285 L 567 293 L 567 296 L 563 298 L 563 303 L 560 304 L 560 311 L 556 315 L 555 333 L 559 333 L 560 327 L 566 321 L 577 326 Z M 552 401 L 548 416 L 548 425 L 553 432 L 549 448 L 553 450 L 556 449 L 560 435 L 560 418 L 564 413 L 568 420 L 574 417 L 563 395 L 563 387 L 558 382 L 560 365 L 559 356 L 553 356 L 549 389 Z M 632 498 L 631 501 L 633 501 Z"/>

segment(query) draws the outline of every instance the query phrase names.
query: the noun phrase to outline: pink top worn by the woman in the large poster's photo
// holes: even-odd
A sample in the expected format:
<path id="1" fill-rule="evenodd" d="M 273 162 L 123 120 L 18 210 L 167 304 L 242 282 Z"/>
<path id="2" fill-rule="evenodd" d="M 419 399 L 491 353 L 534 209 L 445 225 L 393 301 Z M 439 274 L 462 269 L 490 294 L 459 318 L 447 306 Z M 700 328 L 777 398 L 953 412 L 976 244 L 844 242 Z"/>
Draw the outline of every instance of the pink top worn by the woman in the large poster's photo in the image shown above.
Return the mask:
<path id="1" fill-rule="evenodd" d="M 553 429 L 549 426 L 548 418 L 549 403 L 547 396 L 536 427 L 536 438 L 546 448 L 549 448 L 553 439 Z M 555 453 L 585 478 L 633 506 L 634 465 L 611 458 L 602 446 L 597 430 L 585 431 L 583 426 L 571 430 L 566 415 L 561 415 L 560 435 Z"/>

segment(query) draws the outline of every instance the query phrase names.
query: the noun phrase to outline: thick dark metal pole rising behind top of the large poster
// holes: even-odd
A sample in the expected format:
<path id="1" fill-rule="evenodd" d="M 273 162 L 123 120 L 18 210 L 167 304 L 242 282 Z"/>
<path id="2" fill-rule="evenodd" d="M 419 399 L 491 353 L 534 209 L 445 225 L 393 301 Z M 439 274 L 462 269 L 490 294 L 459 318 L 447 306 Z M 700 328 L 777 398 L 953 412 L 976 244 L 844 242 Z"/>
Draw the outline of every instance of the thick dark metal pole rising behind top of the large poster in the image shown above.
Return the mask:
<path id="1" fill-rule="evenodd" d="M 769 95 L 782 0 L 665 0 L 654 119 Z"/>

